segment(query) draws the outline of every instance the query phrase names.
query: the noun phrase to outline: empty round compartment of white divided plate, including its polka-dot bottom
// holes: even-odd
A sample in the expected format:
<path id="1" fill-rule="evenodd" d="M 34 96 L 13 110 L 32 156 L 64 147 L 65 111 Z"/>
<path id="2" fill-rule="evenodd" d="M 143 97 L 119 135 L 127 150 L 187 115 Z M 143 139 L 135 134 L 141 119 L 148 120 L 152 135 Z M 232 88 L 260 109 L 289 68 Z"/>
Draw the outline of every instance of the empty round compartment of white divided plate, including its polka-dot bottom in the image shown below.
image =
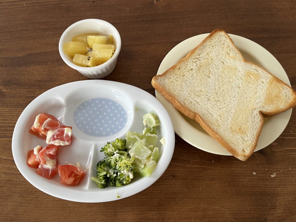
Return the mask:
<path id="1" fill-rule="evenodd" d="M 110 87 L 77 89 L 65 98 L 65 122 L 85 141 L 107 142 L 124 136 L 133 122 L 133 101 Z"/>

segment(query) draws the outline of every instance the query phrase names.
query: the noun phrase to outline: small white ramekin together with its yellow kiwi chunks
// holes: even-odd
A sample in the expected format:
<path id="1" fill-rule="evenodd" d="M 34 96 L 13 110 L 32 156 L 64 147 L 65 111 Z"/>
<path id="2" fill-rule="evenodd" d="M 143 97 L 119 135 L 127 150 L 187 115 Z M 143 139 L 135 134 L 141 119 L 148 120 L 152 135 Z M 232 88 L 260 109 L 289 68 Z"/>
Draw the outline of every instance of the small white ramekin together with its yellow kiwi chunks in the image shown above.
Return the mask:
<path id="1" fill-rule="evenodd" d="M 96 36 L 103 37 L 98 38 Z M 87 39 L 88 37 L 89 41 Z M 69 42 L 75 42 L 75 46 L 72 45 L 73 43 Z M 72 50 L 70 54 L 66 54 L 64 51 L 65 43 L 69 44 L 69 51 Z M 91 52 L 89 52 L 89 43 L 92 47 L 96 47 Z M 108 46 L 102 48 L 102 46 L 100 46 L 101 44 Z M 75 51 L 77 46 L 79 46 L 79 50 L 81 50 L 80 53 L 76 53 Z M 109 22 L 99 19 L 86 19 L 74 23 L 65 30 L 59 41 L 59 53 L 64 62 L 82 75 L 93 79 L 103 78 L 114 70 L 120 49 L 121 38 L 118 30 Z M 111 55 L 110 52 L 112 52 Z M 89 58 L 92 61 L 86 62 L 90 60 L 81 56 L 76 56 L 75 62 L 73 62 L 75 54 L 94 57 L 96 65 L 94 66 L 93 59 Z"/>

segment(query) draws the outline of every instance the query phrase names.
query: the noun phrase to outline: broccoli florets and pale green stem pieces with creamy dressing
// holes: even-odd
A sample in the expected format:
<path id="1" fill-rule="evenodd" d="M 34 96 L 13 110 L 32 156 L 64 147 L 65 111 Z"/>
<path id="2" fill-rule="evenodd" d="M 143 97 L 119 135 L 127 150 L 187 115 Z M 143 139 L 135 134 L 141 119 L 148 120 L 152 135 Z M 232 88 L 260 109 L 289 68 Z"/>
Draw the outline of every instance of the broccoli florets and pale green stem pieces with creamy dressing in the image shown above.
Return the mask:
<path id="1" fill-rule="evenodd" d="M 126 139 L 115 139 L 101 149 L 105 157 L 96 164 L 96 177 L 91 177 L 99 188 L 124 186 L 133 175 L 150 176 L 156 167 L 159 150 L 156 127 L 160 125 L 157 115 L 147 113 L 143 117 L 143 133 L 127 132 Z"/>

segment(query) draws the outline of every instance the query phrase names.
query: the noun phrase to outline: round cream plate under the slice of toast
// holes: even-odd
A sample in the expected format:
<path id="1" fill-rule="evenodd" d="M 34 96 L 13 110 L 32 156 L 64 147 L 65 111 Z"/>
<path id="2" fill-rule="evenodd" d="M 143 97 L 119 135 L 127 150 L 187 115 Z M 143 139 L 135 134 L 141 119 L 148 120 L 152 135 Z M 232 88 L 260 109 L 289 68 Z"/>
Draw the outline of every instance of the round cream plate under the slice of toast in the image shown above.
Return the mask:
<path id="1" fill-rule="evenodd" d="M 184 58 L 208 35 L 209 33 L 194 36 L 176 45 L 163 59 L 157 71 L 157 75 L 161 75 L 167 69 L 175 65 L 180 59 Z M 281 64 L 266 49 L 247 38 L 232 34 L 229 34 L 229 36 L 246 60 L 260 65 L 275 75 L 277 78 L 291 86 L 288 76 Z M 180 136 L 192 146 L 202 149 L 206 152 L 219 155 L 231 155 L 217 141 L 208 135 L 207 132 L 195 120 L 186 117 L 181 112 L 176 110 L 173 105 L 170 104 L 157 91 L 155 91 L 155 95 L 156 98 L 164 105 L 166 110 L 168 110 L 168 113 L 170 114 L 170 117 L 173 121 L 175 132 L 178 136 Z M 289 122 L 291 113 L 292 109 L 270 118 L 264 118 L 263 129 L 255 151 L 268 146 L 274 140 L 276 140 L 279 135 L 281 135 Z"/>

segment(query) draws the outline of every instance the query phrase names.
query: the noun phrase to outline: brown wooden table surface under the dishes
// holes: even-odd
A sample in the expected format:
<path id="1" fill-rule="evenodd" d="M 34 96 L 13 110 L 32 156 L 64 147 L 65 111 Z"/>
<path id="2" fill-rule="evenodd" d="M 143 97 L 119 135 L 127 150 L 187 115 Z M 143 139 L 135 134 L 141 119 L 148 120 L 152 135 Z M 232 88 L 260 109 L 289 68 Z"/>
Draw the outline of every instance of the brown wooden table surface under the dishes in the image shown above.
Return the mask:
<path id="1" fill-rule="evenodd" d="M 165 173 L 113 202 L 71 202 L 38 190 L 17 169 L 11 149 L 15 123 L 33 99 L 88 79 L 59 55 L 59 38 L 74 22 L 112 23 L 122 48 L 115 70 L 103 79 L 155 95 L 151 79 L 165 55 L 217 28 L 266 48 L 295 89 L 295 15 L 294 0 L 0 1 L 0 221 L 296 221 L 295 110 L 279 138 L 247 162 L 204 152 L 176 135 Z"/>

